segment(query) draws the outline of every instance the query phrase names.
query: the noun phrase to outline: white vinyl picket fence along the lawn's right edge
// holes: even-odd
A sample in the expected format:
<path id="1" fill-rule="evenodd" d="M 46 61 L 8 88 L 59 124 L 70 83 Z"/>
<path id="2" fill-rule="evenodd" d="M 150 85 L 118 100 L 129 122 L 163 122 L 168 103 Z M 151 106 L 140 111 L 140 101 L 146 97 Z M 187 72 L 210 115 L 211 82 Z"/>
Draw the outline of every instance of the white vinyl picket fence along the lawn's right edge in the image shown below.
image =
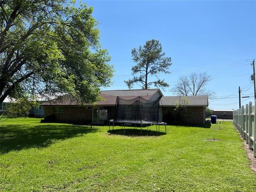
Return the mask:
<path id="1" fill-rule="evenodd" d="M 256 157 L 256 109 L 252 102 L 233 111 L 233 123 Z"/>

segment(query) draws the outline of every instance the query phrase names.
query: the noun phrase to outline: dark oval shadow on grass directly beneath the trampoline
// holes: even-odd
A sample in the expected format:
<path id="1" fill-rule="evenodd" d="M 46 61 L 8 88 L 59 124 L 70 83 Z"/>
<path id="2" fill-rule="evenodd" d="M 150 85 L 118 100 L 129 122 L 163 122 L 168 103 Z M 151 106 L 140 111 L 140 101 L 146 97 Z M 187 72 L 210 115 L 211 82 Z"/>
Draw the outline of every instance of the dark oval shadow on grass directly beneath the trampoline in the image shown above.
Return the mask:
<path id="1" fill-rule="evenodd" d="M 166 133 L 164 132 L 157 132 L 157 131 L 152 131 L 152 130 L 145 130 L 145 129 L 114 129 L 114 130 L 109 130 L 109 134 L 118 134 L 118 135 L 126 135 L 126 136 L 161 136 L 165 135 Z"/>

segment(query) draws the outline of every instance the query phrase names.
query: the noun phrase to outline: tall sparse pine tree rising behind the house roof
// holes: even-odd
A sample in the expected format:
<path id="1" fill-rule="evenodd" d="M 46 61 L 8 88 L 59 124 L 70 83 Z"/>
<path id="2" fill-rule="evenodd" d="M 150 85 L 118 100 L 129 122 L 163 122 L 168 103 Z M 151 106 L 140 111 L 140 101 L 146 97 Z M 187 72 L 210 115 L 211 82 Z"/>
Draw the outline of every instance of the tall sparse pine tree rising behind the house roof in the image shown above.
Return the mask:
<path id="1" fill-rule="evenodd" d="M 129 89 L 134 84 L 142 84 L 142 89 L 148 89 L 151 85 L 156 87 L 168 87 L 169 84 L 158 78 L 159 73 L 168 74 L 169 67 L 172 65 L 171 58 L 165 57 L 162 52 L 162 45 L 158 40 L 152 39 L 138 49 L 132 50 L 132 59 L 136 63 L 132 67 L 134 77 L 125 81 Z M 138 74 L 138 75 L 137 75 Z M 149 79 L 149 77 L 155 77 Z M 151 81 L 150 81 L 151 80 Z"/>

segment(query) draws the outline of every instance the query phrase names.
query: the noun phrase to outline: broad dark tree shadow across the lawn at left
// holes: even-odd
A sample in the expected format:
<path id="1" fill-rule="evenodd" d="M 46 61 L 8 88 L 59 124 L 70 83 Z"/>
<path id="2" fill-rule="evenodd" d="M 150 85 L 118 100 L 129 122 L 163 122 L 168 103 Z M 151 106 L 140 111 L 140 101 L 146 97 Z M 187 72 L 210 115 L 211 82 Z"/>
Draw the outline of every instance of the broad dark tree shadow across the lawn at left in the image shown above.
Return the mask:
<path id="1" fill-rule="evenodd" d="M 2 125 L 0 133 L 0 153 L 34 147 L 50 146 L 54 140 L 78 137 L 95 132 L 90 126 L 74 125 Z"/>

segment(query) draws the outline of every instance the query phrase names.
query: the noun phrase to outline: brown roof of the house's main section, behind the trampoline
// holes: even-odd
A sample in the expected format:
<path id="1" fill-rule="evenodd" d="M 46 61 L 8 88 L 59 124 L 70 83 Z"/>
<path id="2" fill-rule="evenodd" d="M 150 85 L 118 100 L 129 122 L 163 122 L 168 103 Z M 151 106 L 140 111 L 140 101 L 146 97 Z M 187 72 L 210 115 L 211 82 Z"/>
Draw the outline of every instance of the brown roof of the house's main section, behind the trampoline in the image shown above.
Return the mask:
<path id="1" fill-rule="evenodd" d="M 163 93 L 159 89 L 147 89 L 147 90 L 110 90 L 110 91 L 101 91 L 100 95 L 103 97 L 103 101 L 98 101 L 97 106 L 113 106 L 116 105 L 116 97 L 121 97 L 122 99 L 134 99 L 138 96 L 150 100 L 157 94 L 163 96 Z M 70 95 L 63 95 L 59 100 L 52 100 L 50 102 L 44 102 L 43 106 L 77 106 L 81 105 L 79 100 L 75 100 Z M 92 106 L 91 103 L 84 104 L 87 106 Z"/>

